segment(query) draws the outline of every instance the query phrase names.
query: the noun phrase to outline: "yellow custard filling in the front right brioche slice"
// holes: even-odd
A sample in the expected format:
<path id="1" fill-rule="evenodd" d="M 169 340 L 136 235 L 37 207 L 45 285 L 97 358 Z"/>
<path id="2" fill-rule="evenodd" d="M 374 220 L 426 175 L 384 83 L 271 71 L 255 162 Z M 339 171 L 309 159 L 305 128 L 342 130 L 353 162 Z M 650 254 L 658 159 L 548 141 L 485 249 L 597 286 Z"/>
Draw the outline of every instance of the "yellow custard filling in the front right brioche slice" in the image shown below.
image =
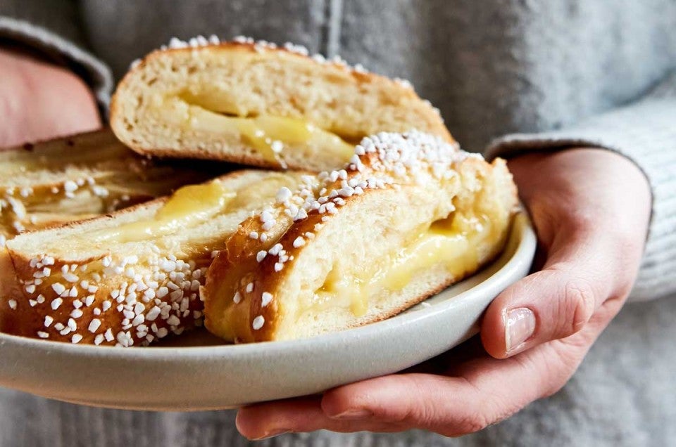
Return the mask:
<path id="1" fill-rule="evenodd" d="M 508 219 L 508 217 L 507 217 Z M 347 273 L 334 268 L 325 283 L 313 295 L 312 302 L 302 303 L 298 315 L 318 313 L 333 306 L 349 306 L 359 317 L 368 312 L 369 298 L 379 290 L 399 292 L 411 280 L 434 266 L 442 265 L 460 278 L 479 264 L 477 247 L 494 244 L 503 237 L 506 222 L 494 224 L 486 214 L 456 212 L 434 222 L 411 243 L 386 258 L 372 270 Z"/>

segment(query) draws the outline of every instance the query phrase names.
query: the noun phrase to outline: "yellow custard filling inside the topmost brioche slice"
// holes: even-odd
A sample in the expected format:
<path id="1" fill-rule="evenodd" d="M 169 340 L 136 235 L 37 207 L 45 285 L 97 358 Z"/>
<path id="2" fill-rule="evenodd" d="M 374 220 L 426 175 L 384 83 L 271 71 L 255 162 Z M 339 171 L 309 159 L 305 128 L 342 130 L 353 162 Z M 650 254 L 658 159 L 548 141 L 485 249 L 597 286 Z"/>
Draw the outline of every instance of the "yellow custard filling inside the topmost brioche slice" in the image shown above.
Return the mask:
<path id="1" fill-rule="evenodd" d="M 178 96 L 156 98 L 154 109 L 163 121 L 178 124 L 181 129 L 206 131 L 216 135 L 239 135 L 268 162 L 284 166 L 283 151 L 287 146 L 321 148 L 323 153 L 347 162 L 354 146 L 338 135 L 320 129 L 303 119 L 261 115 L 237 116 L 218 94 L 213 96 L 183 93 Z M 224 113 L 235 116 L 223 115 Z"/>

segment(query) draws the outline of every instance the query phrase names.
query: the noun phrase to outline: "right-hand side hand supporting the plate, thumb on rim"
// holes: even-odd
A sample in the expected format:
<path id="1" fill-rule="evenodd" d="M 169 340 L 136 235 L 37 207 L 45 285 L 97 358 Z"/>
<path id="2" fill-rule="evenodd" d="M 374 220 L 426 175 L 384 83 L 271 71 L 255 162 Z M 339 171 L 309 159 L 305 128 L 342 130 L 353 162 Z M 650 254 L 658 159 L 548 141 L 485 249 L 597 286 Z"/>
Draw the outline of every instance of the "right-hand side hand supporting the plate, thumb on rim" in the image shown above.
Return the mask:
<path id="1" fill-rule="evenodd" d="M 630 160 L 607 150 L 522 155 L 509 167 L 537 231 L 539 271 L 487 309 L 487 352 L 469 343 L 411 371 L 242 408 L 239 432 L 261 439 L 419 428 L 461 436 L 561 389 L 632 288 L 650 189 Z"/>

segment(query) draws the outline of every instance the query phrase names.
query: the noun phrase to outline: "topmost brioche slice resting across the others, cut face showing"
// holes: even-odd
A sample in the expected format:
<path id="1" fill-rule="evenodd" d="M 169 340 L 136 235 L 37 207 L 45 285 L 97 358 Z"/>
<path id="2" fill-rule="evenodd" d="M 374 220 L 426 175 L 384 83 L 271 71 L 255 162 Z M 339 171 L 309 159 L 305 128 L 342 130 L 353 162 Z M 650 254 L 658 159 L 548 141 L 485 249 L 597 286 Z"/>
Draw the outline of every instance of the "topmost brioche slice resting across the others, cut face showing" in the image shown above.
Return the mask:
<path id="1" fill-rule="evenodd" d="M 127 73 L 111 126 L 139 153 L 321 171 L 379 131 L 453 138 L 407 82 L 287 44 L 174 39 Z"/>

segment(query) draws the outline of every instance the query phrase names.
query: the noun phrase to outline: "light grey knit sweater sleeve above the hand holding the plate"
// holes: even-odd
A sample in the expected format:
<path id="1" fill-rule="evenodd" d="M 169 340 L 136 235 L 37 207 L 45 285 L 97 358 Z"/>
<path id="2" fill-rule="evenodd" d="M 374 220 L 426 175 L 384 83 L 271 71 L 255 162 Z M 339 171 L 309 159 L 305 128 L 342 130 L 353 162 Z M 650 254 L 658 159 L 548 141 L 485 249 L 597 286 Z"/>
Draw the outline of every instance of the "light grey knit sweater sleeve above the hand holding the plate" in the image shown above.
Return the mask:
<path id="1" fill-rule="evenodd" d="M 653 208 L 639 277 L 630 299 L 676 291 L 676 72 L 644 98 L 572 127 L 513 134 L 492 142 L 486 157 L 571 146 L 606 148 L 628 157 L 649 179 Z"/>

